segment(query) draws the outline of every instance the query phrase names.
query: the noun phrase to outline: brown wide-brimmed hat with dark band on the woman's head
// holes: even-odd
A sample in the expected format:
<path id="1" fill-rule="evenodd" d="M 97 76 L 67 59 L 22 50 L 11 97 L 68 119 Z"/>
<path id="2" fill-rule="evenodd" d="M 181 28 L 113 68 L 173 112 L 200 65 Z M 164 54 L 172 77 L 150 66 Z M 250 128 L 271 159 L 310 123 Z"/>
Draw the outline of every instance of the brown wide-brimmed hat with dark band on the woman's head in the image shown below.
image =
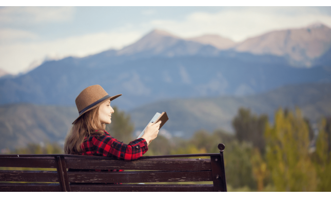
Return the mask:
<path id="1" fill-rule="evenodd" d="M 120 96 L 122 96 L 122 94 L 109 96 L 99 84 L 85 88 L 75 100 L 78 113 L 80 114 L 77 119 L 79 119 L 83 114 L 90 111 L 91 109 L 101 105 L 106 100 L 110 99 L 110 101 L 112 101 L 113 99 Z M 75 123 L 77 119 L 75 119 L 72 124 Z"/>

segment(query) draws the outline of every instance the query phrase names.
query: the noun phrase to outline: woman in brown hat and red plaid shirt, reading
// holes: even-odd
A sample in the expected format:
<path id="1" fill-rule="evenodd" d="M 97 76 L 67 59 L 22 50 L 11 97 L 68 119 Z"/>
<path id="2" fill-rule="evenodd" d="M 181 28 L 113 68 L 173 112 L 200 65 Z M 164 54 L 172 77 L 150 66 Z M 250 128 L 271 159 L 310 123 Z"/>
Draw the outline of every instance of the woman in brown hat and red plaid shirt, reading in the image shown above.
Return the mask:
<path id="1" fill-rule="evenodd" d="M 114 113 L 110 101 L 121 95 L 111 97 L 100 85 L 92 85 L 77 96 L 75 102 L 79 117 L 72 123 L 66 137 L 66 154 L 106 156 L 123 160 L 135 160 L 144 155 L 149 142 L 158 136 L 161 122 L 148 124 L 144 135 L 129 144 L 111 137 L 105 130 L 106 124 L 111 123 L 111 114 Z"/>

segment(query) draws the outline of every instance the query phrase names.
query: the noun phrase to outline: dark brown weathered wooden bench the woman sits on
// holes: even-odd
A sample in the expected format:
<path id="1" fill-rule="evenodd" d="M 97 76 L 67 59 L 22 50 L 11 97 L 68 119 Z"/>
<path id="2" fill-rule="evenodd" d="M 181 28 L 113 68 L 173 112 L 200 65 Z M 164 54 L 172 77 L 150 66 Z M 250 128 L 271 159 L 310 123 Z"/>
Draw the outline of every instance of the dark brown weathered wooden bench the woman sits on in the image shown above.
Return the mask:
<path id="1" fill-rule="evenodd" d="M 225 146 L 219 144 L 218 148 L 220 153 L 144 156 L 134 161 L 79 155 L 0 155 L 0 167 L 56 168 L 0 170 L 0 191 L 227 191 Z M 206 156 L 210 159 L 187 159 Z M 67 171 L 68 168 L 125 171 Z M 202 181 L 212 184 L 129 184 Z"/>

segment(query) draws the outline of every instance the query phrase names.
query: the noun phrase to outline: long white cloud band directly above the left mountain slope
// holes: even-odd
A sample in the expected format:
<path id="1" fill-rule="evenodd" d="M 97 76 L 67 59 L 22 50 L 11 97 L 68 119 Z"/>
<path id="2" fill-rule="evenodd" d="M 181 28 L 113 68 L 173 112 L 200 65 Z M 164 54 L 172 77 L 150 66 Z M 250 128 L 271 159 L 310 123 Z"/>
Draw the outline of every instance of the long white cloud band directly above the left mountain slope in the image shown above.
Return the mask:
<path id="1" fill-rule="evenodd" d="M 32 36 L 32 35 L 30 35 Z M 7 43 L 0 45 L 0 68 L 17 74 L 28 69 L 33 62 L 49 57 L 84 57 L 112 48 L 120 49 L 138 40 L 138 32 L 101 32 L 73 36 L 51 41 Z M 34 65 L 34 64 L 33 64 Z"/>

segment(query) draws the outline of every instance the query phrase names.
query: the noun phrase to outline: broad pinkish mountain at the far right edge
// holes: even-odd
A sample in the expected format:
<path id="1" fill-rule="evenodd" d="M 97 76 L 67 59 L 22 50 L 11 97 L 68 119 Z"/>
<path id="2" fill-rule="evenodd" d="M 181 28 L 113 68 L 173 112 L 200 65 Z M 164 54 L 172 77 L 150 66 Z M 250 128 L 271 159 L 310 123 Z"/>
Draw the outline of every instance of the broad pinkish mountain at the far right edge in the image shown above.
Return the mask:
<path id="1" fill-rule="evenodd" d="M 237 52 L 283 56 L 291 65 L 313 66 L 314 59 L 331 48 L 331 29 L 313 24 L 300 29 L 271 31 L 238 43 Z"/>

